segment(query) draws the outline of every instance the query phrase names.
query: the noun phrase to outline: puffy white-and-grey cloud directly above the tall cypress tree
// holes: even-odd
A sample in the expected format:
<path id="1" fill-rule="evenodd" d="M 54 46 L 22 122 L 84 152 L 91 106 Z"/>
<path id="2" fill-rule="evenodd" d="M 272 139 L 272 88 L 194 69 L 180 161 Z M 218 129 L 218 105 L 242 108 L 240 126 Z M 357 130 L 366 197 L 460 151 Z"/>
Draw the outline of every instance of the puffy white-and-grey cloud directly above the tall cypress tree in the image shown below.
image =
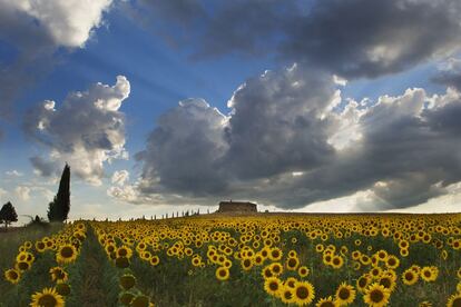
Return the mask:
<path id="1" fill-rule="evenodd" d="M 114 86 L 96 83 L 88 91 L 70 93 L 59 107 L 46 100 L 24 116 L 24 131 L 48 148 L 47 158 L 30 158 L 43 176 L 59 172 L 67 161 L 72 174 L 100 185 L 104 162 L 125 159 L 125 116 L 119 111 L 130 85 L 118 76 Z"/>

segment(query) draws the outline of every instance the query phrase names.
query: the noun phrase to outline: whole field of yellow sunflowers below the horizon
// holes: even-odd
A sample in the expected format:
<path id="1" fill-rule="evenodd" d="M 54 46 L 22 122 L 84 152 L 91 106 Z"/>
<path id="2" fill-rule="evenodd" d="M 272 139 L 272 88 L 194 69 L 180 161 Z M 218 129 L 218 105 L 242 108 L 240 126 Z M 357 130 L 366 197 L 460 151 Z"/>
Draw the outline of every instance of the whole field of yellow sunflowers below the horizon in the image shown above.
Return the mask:
<path id="1" fill-rule="evenodd" d="M 204 215 L 0 234 L 0 306 L 461 306 L 461 214 Z"/>

